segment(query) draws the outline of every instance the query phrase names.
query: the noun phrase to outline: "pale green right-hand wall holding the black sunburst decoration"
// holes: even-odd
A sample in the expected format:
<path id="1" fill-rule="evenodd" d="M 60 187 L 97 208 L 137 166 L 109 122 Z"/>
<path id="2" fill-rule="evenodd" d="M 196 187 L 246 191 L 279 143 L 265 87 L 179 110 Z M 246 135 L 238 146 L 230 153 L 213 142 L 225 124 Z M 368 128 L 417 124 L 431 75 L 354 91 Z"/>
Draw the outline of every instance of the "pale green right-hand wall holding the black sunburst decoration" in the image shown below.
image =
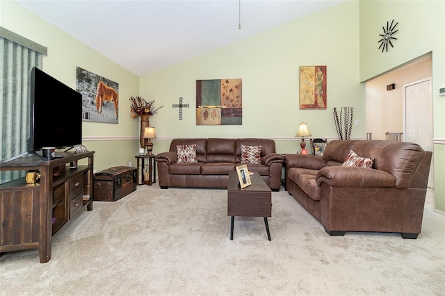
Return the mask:
<path id="1" fill-rule="evenodd" d="M 432 54 L 435 208 L 445 212 L 445 1 L 360 0 L 360 81 Z M 398 22 L 394 48 L 382 53 L 378 40 L 387 21 Z"/>

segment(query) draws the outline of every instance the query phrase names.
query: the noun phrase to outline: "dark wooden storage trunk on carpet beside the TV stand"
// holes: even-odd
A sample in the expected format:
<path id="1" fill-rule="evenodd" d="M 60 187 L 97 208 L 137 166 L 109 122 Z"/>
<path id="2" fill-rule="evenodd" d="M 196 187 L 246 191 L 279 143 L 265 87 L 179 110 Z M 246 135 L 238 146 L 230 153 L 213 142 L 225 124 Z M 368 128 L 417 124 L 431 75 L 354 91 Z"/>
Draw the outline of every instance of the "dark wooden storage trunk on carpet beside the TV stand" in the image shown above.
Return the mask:
<path id="1" fill-rule="evenodd" d="M 136 167 L 110 167 L 95 174 L 94 200 L 115 202 L 136 190 Z"/>

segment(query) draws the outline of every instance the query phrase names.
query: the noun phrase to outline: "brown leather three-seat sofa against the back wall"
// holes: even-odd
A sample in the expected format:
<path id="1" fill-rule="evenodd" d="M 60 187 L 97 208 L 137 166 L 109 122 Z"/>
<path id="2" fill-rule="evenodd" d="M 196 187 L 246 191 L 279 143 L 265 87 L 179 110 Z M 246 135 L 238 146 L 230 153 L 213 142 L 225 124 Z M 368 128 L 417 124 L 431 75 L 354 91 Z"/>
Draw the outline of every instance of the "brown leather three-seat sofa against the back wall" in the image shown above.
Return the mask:
<path id="1" fill-rule="evenodd" d="M 178 163 L 177 145 L 196 145 L 197 163 Z M 169 151 L 156 155 L 159 186 L 227 188 L 229 172 L 241 165 L 241 144 L 261 146 L 261 164 L 248 164 L 257 171 L 271 190 L 280 190 L 284 156 L 275 153 L 269 139 L 174 139 Z"/>

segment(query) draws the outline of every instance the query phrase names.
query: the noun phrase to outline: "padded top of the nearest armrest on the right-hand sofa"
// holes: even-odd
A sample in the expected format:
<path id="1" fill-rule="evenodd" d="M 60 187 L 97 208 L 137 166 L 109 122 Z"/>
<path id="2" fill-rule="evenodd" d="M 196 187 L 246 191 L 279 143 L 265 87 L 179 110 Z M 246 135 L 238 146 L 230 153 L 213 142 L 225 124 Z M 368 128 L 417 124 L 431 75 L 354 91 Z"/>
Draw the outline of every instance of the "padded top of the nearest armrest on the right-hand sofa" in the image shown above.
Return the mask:
<path id="1" fill-rule="evenodd" d="M 365 167 L 323 167 L 316 174 L 318 186 L 334 187 L 394 187 L 396 178 L 381 170 Z"/>

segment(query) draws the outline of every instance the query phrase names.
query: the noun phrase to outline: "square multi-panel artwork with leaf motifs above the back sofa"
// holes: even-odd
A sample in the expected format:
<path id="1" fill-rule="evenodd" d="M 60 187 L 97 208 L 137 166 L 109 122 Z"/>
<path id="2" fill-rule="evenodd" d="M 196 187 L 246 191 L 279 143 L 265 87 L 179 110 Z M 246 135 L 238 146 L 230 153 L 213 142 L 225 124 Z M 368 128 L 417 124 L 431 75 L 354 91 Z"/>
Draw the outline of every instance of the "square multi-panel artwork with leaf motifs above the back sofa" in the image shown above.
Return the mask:
<path id="1" fill-rule="evenodd" d="M 196 81 L 196 125 L 243 124 L 243 80 Z"/>

